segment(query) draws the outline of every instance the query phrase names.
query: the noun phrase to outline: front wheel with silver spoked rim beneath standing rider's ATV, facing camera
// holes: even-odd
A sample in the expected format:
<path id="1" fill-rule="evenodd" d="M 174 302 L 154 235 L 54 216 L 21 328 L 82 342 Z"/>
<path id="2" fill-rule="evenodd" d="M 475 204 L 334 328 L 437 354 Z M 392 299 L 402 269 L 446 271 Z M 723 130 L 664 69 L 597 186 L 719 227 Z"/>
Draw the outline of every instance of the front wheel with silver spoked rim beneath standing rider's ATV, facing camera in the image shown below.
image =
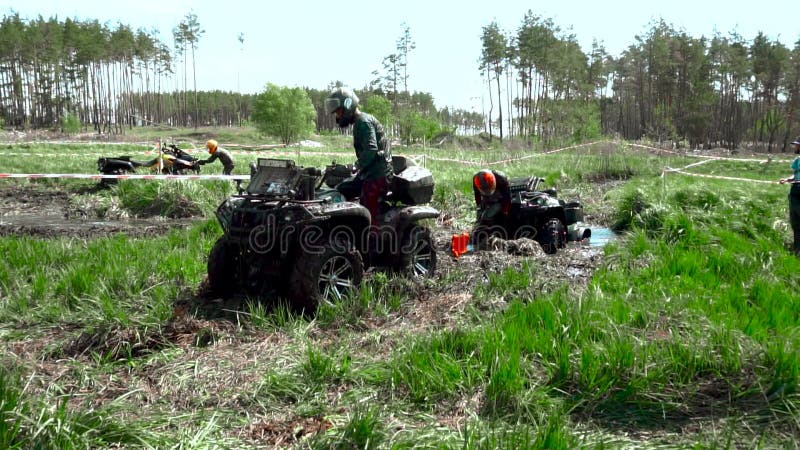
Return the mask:
<path id="1" fill-rule="evenodd" d="M 320 301 L 339 301 L 354 293 L 364 276 L 361 254 L 343 241 L 324 240 L 321 251 L 303 252 L 290 276 L 288 297 L 297 308 L 316 310 Z"/>

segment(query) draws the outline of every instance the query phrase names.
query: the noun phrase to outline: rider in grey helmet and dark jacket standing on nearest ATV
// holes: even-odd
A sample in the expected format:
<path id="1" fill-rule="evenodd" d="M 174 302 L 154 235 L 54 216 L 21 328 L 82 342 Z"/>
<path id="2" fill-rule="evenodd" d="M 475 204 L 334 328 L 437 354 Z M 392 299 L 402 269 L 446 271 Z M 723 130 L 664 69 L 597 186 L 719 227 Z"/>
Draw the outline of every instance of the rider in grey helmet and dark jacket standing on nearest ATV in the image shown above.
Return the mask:
<path id="1" fill-rule="evenodd" d="M 358 97 L 344 87 L 336 88 L 325 100 L 328 114 L 336 114 L 341 128 L 353 125 L 353 147 L 356 150 L 357 180 L 361 184 L 360 203 L 372 217 L 370 241 L 377 235 L 378 205 L 389 191 L 392 177 L 392 151 L 383 125 L 374 116 L 358 109 Z"/>

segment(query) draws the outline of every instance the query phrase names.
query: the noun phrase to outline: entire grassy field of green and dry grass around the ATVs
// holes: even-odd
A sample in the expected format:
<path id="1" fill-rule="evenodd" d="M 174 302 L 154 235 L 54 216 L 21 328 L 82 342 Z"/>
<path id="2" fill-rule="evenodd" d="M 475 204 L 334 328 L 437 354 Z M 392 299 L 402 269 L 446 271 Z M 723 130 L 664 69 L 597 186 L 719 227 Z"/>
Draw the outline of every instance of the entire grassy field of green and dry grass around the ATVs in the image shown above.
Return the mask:
<path id="1" fill-rule="evenodd" d="M 322 141 L 298 163 L 352 151 L 346 137 Z M 4 144 L 0 155 L 17 156 L 0 173 L 93 173 L 101 154 L 146 150 Z M 448 230 L 471 224 L 479 166 L 436 158 L 529 154 L 395 153 L 429 157 L 436 226 Z M 236 155 L 236 172 L 254 158 Z M 695 162 L 602 142 L 499 165 L 545 177 L 562 198 L 580 198 L 594 225 L 618 230 L 588 281 L 548 281 L 563 259 L 482 268 L 443 253 L 446 270 L 428 282 L 377 273 L 314 317 L 199 299 L 221 234 L 213 211 L 232 185 L 4 180 L 4 200 L 62 192 L 98 215 L 150 217 L 156 204 L 190 208 L 194 220 L 152 233 L 0 237 L 0 448 L 795 447 L 800 261 L 787 251 L 788 188 L 661 176 Z M 789 173 L 788 163 L 734 161 L 687 171 Z"/>

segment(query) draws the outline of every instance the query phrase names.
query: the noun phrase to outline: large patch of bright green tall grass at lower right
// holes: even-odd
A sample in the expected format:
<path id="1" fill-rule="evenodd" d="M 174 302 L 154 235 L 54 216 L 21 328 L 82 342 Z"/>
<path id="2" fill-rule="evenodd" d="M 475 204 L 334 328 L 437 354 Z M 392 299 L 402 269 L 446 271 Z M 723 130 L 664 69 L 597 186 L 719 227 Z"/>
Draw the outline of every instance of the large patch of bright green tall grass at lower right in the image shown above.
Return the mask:
<path id="1" fill-rule="evenodd" d="M 481 329 L 408 345 L 387 363 L 391 385 L 423 405 L 482 386 L 484 414 L 515 421 L 534 420 L 523 399 L 536 392 L 564 402 L 568 420 L 609 427 L 770 420 L 767 439 L 785 442 L 798 431 L 800 263 L 764 197 L 781 195 L 640 184 L 618 204 L 627 236 L 584 294 L 528 301 L 516 283 L 527 273 L 494 278 L 476 295 L 517 296 L 509 308 Z"/>

